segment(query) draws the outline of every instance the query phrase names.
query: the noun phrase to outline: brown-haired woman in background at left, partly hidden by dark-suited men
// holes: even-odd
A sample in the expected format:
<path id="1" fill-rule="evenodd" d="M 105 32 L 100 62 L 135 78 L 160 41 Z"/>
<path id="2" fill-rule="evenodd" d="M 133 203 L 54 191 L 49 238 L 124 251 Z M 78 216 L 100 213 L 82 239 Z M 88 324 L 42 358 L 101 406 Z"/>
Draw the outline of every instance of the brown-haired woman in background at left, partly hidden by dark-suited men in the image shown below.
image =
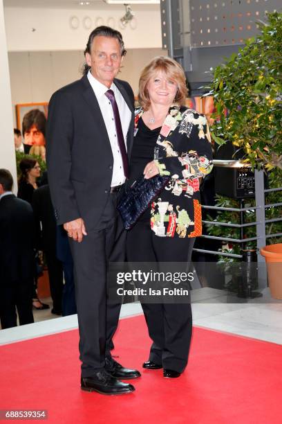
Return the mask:
<path id="1" fill-rule="evenodd" d="M 21 174 L 19 176 L 18 193 L 19 199 L 32 203 L 33 192 L 37 190 L 37 180 L 40 177 L 40 166 L 33 157 L 24 157 L 19 163 Z M 36 310 L 48 309 L 46 303 L 39 301 L 37 297 L 37 259 L 35 260 L 35 286 L 33 290 L 32 306 Z"/>

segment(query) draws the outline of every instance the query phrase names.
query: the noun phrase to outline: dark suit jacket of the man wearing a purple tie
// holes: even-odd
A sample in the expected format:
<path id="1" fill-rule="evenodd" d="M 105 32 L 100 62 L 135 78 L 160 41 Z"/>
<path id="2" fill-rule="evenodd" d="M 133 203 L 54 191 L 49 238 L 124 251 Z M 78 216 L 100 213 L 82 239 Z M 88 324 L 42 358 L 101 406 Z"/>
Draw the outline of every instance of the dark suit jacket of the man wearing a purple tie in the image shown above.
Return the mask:
<path id="1" fill-rule="evenodd" d="M 127 82 L 115 79 L 114 83 L 132 112 L 125 140 L 130 157 L 133 91 Z M 83 218 L 86 231 L 96 229 L 110 195 L 113 153 L 87 76 L 53 94 L 46 139 L 48 180 L 57 224 Z"/>

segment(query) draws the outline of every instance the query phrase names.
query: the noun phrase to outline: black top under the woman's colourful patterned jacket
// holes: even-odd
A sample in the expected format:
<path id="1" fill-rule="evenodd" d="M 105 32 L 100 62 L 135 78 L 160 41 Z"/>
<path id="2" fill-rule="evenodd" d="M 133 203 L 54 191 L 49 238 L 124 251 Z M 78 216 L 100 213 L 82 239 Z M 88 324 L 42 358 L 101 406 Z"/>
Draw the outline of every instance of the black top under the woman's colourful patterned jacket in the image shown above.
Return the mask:
<path id="1" fill-rule="evenodd" d="M 161 129 L 161 127 L 158 127 L 155 130 L 150 130 L 150 128 L 145 125 L 142 118 L 139 119 L 137 128 L 138 132 L 134 137 L 131 153 L 129 186 L 135 182 L 135 179 L 138 179 L 138 177 L 143 174 L 145 166 L 153 161 L 154 149 Z M 150 216 L 151 210 L 148 208 L 139 220 L 148 222 Z"/>

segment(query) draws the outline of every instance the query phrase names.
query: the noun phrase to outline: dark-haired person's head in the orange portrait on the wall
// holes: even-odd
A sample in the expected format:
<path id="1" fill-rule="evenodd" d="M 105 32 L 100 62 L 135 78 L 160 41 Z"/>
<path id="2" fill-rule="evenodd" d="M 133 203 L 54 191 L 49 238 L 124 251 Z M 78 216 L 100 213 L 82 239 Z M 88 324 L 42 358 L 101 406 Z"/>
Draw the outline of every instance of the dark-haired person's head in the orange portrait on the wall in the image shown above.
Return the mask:
<path id="1" fill-rule="evenodd" d="M 46 116 L 39 109 L 32 109 L 23 116 L 24 151 L 29 152 L 32 145 L 45 145 Z"/>

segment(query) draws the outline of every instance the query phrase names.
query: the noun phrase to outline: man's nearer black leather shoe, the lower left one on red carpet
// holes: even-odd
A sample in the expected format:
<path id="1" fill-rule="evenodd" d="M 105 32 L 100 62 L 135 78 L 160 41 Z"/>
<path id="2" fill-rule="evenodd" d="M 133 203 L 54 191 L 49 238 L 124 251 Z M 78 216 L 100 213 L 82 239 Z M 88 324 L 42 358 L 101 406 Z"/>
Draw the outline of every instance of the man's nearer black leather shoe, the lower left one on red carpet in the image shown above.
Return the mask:
<path id="1" fill-rule="evenodd" d="M 126 394 L 135 390 L 133 385 L 117 380 L 104 370 L 91 377 L 82 378 L 81 388 L 85 391 L 97 391 L 106 395 Z"/>

